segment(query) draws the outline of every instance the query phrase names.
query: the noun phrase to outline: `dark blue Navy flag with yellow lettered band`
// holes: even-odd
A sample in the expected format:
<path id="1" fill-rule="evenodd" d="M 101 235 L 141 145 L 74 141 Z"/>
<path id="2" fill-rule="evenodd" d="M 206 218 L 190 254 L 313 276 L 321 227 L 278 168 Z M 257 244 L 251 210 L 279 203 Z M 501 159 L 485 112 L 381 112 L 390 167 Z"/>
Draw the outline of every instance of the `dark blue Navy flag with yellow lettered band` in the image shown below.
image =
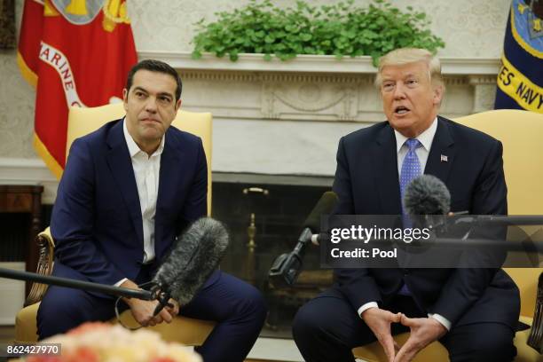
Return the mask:
<path id="1" fill-rule="evenodd" d="M 543 114 L 543 0 L 513 0 L 494 108 Z"/>

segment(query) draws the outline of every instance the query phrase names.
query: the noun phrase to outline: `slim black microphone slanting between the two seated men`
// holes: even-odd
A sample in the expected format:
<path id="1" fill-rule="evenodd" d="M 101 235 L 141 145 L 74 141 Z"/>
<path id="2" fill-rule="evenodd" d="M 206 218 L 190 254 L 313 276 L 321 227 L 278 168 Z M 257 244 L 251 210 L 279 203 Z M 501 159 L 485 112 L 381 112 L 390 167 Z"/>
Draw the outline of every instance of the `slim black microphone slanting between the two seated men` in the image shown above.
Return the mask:
<path id="1" fill-rule="evenodd" d="M 331 191 L 323 193 L 319 202 L 311 210 L 303 223 L 303 231 L 298 237 L 295 248 L 290 253 L 278 256 L 271 264 L 268 278 L 272 287 L 292 286 L 303 266 L 305 247 L 311 241 L 313 234 L 320 230 L 320 216 L 332 212 L 337 203 L 337 195 Z"/>

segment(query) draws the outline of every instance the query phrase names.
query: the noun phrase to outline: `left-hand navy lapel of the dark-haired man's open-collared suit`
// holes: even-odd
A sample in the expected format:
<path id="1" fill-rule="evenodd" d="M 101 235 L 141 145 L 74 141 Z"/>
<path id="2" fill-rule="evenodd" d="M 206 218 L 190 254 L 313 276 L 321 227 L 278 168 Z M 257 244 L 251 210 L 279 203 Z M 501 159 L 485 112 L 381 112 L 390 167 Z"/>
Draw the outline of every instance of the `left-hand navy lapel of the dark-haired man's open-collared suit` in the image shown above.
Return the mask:
<path id="1" fill-rule="evenodd" d="M 139 204 L 138 185 L 136 185 L 136 177 L 134 177 L 130 153 L 122 132 L 122 121 L 117 122 L 112 127 L 106 142 L 110 147 L 106 155 L 107 164 L 126 203 L 130 219 L 138 235 L 138 240 L 143 246 L 143 222 L 141 218 L 141 205 Z"/>

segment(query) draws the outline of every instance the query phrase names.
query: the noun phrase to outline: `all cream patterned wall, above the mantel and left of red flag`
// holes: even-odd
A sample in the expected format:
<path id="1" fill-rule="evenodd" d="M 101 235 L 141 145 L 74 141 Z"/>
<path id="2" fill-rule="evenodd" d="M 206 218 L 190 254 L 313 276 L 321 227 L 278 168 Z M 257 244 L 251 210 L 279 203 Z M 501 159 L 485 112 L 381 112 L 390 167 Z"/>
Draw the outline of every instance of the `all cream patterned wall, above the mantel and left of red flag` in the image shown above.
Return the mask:
<path id="1" fill-rule="evenodd" d="M 19 28 L 22 0 L 16 1 Z M 129 0 L 129 12 L 138 51 L 191 51 L 193 23 L 214 12 L 230 10 L 246 0 L 169 1 Z M 276 0 L 275 4 L 295 4 Z M 329 4 L 328 0 L 311 1 Z M 369 0 L 357 0 L 367 4 Z M 441 36 L 446 57 L 498 58 L 500 56 L 509 0 L 397 0 L 427 12 L 432 29 Z M 169 6 L 165 6 L 168 4 Z M 34 90 L 20 76 L 16 51 L 0 51 L 0 157 L 34 158 L 32 130 Z"/>

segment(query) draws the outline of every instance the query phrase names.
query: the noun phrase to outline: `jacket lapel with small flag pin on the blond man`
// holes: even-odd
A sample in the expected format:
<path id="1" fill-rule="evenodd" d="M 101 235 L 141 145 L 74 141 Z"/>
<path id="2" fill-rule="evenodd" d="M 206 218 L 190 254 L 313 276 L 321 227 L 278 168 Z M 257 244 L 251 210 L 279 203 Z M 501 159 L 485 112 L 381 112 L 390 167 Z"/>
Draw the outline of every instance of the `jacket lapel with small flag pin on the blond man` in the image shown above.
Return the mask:
<path id="1" fill-rule="evenodd" d="M 456 148 L 449 126 L 443 118 L 438 116 L 436 136 L 432 141 L 424 173 L 433 175 L 446 183 L 453 166 L 455 153 Z"/>

